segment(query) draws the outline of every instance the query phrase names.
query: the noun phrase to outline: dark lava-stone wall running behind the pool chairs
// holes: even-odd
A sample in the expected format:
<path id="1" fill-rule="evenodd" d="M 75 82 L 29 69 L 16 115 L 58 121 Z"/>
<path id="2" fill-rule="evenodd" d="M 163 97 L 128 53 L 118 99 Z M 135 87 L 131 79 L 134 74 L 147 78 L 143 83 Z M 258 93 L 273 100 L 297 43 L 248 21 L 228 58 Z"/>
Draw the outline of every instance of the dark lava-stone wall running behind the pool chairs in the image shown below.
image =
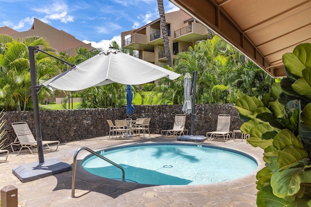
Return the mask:
<path id="1" fill-rule="evenodd" d="M 182 105 L 137 105 L 130 118 L 150 117 L 150 133 L 159 134 L 161 129 L 172 129 L 175 114 L 183 113 Z M 232 104 L 201 104 L 196 105 L 194 135 L 206 136 L 206 132 L 216 130 L 218 114 L 230 114 L 230 129 L 239 129 L 242 121 L 238 111 Z M 40 111 L 41 134 L 43 140 L 59 140 L 61 143 L 101 137 L 109 134 L 107 119 L 127 118 L 126 108 L 112 109 L 78 109 Z M 6 144 L 14 141 L 16 135 L 12 122 L 27 122 L 35 135 L 33 111 L 4 112 L 7 120 L 3 128 L 7 131 Z M 190 134 L 191 117 L 187 115 L 186 128 Z M 7 147 L 9 149 L 10 147 Z M 9 149 L 11 150 L 11 149 Z"/>

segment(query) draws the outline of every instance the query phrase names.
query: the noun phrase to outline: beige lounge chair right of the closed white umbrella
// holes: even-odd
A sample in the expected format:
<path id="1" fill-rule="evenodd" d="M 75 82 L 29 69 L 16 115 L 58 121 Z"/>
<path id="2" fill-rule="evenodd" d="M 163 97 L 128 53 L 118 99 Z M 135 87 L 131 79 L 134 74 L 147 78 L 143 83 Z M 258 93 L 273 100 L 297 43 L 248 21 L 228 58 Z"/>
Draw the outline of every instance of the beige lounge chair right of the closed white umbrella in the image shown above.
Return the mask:
<path id="1" fill-rule="evenodd" d="M 211 131 L 206 133 L 206 137 L 210 135 L 210 139 L 212 137 L 215 138 L 224 138 L 224 142 L 228 140 L 228 137 L 230 139 L 230 134 L 232 131 L 230 131 L 230 122 L 231 117 L 229 114 L 219 114 L 218 115 L 218 121 L 217 121 L 217 128 L 216 131 Z"/>

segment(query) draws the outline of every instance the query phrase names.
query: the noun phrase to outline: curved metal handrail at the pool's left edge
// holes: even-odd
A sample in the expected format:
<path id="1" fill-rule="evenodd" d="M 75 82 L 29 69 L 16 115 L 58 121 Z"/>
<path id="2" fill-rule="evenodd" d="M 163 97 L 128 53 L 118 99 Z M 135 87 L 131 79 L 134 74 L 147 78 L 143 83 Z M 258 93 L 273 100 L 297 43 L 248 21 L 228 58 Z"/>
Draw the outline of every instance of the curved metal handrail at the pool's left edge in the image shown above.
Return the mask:
<path id="1" fill-rule="evenodd" d="M 72 184 L 71 184 L 71 197 L 72 197 L 72 198 L 74 198 L 74 190 L 75 190 L 75 179 L 76 179 L 76 169 L 77 169 L 77 156 L 78 156 L 79 152 L 82 151 L 82 150 L 86 150 L 86 151 L 92 153 L 93 155 L 96 155 L 97 157 L 99 157 L 99 158 L 101 158 L 101 159 L 104 159 L 105 161 L 109 162 L 110 164 L 116 166 L 117 168 L 120 168 L 121 171 L 122 171 L 122 181 L 125 181 L 125 172 L 124 172 L 124 169 L 123 169 L 120 165 L 118 165 L 118 164 L 114 163 L 113 161 L 111 161 L 110 159 L 107 159 L 107 158 L 105 158 L 104 156 L 102 156 L 102 155 L 100 155 L 100 154 L 94 152 L 93 150 L 91 150 L 91 149 L 89 149 L 89 148 L 83 146 L 83 147 L 80 147 L 80 148 L 76 151 L 76 153 L 74 153 L 74 156 L 73 156 L 73 164 L 72 164 Z"/>

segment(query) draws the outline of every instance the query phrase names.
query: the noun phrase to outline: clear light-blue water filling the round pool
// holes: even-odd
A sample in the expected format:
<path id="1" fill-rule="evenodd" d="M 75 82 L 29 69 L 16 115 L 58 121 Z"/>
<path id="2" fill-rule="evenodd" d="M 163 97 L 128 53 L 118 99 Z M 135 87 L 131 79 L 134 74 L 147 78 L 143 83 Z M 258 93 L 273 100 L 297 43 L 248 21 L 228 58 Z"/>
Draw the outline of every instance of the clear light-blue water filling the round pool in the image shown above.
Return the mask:
<path id="1" fill-rule="evenodd" d="M 152 185 L 224 182 L 251 174 L 258 166 L 257 161 L 245 153 L 204 144 L 132 144 L 98 153 L 121 165 L 126 180 Z M 86 157 L 82 166 L 95 175 L 122 178 L 119 168 L 96 156 Z"/>

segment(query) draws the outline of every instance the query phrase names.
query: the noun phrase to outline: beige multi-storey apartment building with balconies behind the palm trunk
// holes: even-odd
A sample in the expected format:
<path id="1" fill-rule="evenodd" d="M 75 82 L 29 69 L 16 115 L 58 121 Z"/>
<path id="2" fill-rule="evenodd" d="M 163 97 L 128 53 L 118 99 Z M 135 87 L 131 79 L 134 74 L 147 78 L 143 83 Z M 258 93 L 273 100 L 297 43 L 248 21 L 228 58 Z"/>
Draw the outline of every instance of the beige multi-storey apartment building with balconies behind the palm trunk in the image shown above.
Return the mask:
<path id="1" fill-rule="evenodd" d="M 208 30 L 184 11 L 165 14 L 172 59 L 198 40 L 208 39 Z M 166 65 L 160 18 L 135 30 L 121 32 L 121 47 L 133 46 L 137 57 L 153 64 Z"/>

